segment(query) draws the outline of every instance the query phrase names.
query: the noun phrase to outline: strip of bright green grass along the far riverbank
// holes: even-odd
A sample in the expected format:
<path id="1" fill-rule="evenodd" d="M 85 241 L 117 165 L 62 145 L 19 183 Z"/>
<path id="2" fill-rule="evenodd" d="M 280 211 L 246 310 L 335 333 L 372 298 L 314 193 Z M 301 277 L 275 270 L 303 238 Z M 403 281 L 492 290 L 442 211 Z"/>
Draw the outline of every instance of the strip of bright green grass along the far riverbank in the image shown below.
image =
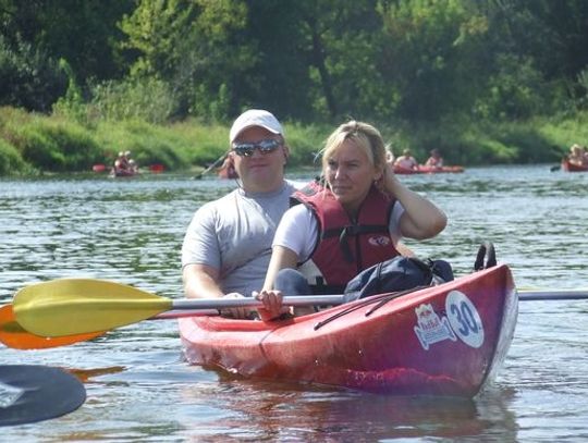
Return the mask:
<path id="1" fill-rule="evenodd" d="M 334 125 L 301 124 L 285 120 L 292 148 L 291 165 L 316 165 L 316 155 Z M 432 148 L 448 164 L 464 167 L 559 162 L 574 143 L 588 140 L 588 112 L 574 116 L 536 118 L 525 122 L 445 123 L 404 128 L 378 127 L 395 155 L 411 148 L 425 162 Z M 109 169 L 119 151 L 130 150 L 143 169 L 162 164 L 164 171 L 200 173 L 229 148 L 229 125 L 196 119 L 169 124 L 144 120 L 75 119 L 0 108 L 0 176 L 91 172 L 94 164 Z"/>

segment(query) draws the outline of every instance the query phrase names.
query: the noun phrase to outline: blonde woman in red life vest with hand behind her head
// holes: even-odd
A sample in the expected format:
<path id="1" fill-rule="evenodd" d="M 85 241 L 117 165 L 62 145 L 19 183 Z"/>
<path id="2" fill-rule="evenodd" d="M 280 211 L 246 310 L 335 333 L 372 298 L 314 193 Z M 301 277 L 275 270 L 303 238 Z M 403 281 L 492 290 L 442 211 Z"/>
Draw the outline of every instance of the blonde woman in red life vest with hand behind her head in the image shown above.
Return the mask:
<path id="1" fill-rule="evenodd" d="M 340 293 L 362 270 L 401 255 L 402 237 L 433 237 L 446 225 L 436 205 L 397 180 L 367 123 L 350 121 L 330 135 L 322 172 L 322 181 L 294 194 L 302 205 L 275 233 L 259 293 L 273 316 L 284 310 L 283 294 Z"/>

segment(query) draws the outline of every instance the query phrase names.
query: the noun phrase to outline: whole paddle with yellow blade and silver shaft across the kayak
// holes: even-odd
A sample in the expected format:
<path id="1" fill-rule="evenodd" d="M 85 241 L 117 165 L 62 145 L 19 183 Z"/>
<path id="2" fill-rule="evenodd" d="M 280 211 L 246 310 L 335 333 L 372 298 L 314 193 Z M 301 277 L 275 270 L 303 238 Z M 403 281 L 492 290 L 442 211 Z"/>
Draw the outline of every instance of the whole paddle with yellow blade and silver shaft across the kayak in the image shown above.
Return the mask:
<path id="1" fill-rule="evenodd" d="M 520 299 L 579 299 L 585 292 L 519 292 Z M 329 306 L 344 295 L 299 295 L 283 298 L 285 306 Z M 139 288 L 96 279 L 58 279 L 20 290 L 13 299 L 14 317 L 26 331 L 59 337 L 103 332 L 172 310 L 259 308 L 254 297 L 172 299 Z"/>

